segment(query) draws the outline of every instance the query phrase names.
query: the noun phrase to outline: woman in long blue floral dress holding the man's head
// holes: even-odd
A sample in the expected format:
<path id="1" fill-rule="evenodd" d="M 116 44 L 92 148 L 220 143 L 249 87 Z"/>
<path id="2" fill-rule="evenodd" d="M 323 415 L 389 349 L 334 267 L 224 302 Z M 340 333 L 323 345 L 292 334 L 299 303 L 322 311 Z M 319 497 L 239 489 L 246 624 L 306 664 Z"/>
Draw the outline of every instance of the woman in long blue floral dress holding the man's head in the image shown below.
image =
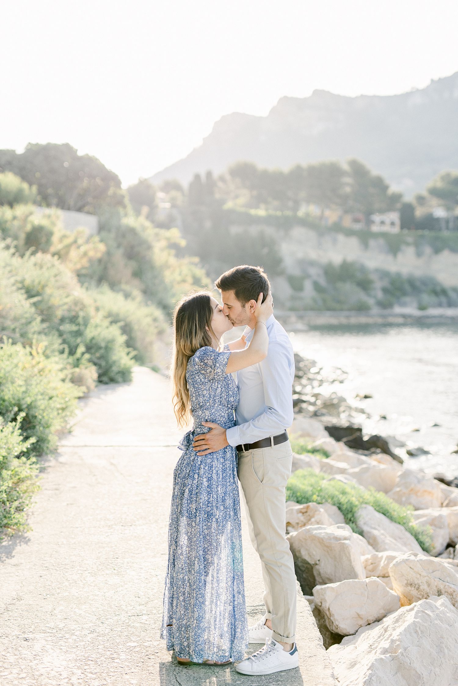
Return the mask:
<path id="1" fill-rule="evenodd" d="M 208 431 L 204 421 L 234 425 L 239 393 L 231 372 L 267 355 L 272 296 L 262 298 L 247 348 L 241 338 L 219 349 L 232 324 L 208 293 L 186 297 L 173 317 L 174 409 L 180 425 L 191 416 L 194 423 L 173 472 L 161 637 L 182 664 L 227 664 L 242 660 L 248 647 L 237 451 L 229 445 L 198 456 L 193 438 Z"/>

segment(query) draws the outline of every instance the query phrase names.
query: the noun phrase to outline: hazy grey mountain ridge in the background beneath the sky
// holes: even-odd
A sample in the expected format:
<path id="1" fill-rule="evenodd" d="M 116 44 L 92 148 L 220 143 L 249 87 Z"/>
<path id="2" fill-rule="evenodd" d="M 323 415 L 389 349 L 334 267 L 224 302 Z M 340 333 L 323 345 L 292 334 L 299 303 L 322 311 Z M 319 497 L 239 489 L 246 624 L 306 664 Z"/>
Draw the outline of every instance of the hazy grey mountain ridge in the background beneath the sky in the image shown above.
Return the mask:
<path id="1" fill-rule="evenodd" d="M 151 177 L 187 183 L 247 160 L 288 169 L 357 157 L 407 195 L 444 169 L 458 169 L 458 71 L 395 95 L 339 95 L 317 88 L 282 96 L 265 116 L 230 113 L 201 145 Z"/>

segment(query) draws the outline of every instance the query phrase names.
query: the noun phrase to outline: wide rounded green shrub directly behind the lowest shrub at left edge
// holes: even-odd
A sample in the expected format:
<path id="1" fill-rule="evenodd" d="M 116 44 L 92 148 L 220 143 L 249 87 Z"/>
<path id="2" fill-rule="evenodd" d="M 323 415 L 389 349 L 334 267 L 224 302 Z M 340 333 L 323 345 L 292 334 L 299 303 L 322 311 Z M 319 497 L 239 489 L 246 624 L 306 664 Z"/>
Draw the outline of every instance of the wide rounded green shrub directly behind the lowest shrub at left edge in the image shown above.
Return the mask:
<path id="1" fill-rule="evenodd" d="M 69 381 L 62 360 L 45 357 L 40 344 L 26 348 L 4 340 L 0 344 L 0 416 L 14 422 L 21 416 L 25 456 L 56 447 L 56 431 L 67 424 L 82 391 Z M 33 438 L 33 442 L 28 442 Z"/>

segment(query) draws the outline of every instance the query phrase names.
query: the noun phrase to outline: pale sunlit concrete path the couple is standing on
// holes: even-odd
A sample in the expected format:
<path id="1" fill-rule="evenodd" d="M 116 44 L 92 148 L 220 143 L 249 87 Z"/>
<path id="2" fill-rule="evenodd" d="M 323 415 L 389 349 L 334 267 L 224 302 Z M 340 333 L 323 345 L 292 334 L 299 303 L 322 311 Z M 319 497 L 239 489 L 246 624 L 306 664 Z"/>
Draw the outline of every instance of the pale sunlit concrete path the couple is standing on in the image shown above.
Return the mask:
<path id="1" fill-rule="evenodd" d="M 99 387 L 45 460 L 32 531 L 0 544 L 0 685 L 335 684 L 299 603 L 300 670 L 249 677 L 180 667 L 159 639 L 167 523 L 181 432 L 160 375 Z M 258 558 L 243 522 L 250 617 L 262 614 Z"/>

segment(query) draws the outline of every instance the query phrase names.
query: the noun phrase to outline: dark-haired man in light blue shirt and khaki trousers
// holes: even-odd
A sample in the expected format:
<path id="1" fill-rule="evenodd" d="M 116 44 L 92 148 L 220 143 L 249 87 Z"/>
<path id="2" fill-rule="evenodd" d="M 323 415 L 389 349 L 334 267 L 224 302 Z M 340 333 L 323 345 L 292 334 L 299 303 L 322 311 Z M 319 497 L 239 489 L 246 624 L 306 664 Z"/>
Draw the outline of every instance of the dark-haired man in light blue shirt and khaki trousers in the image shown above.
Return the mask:
<path id="1" fill-rule="evenodd" d="M 230 349 L 245 348 L 253 335 L 258 295 L 262 291 L 267 296 L 270 289 L 267 276 L 259 267 L 243 265 L 222 274 L 215 285 L 232 324 L 251 329 L 230 344 Z M 265 615 L 250 627 L 250 643 L 268 639 L 267 643 L 262 655 L 255 653 L 236 666 L 238 672 L 253 675 L 298 666 L 296 574 L 285 535 L 285 488 L 292 461 L 286 429 L 293 423 L 294 355 L 285 329 L 273 315 L 266 326 L 267 357 L 237 372 L 240 400 L 235 410 L 236 425 L 224 429 L 204 422 L 210 431 L 194 439 L 199 455 L 226 445 L 237 447 L 250 537 L 261 558 L 265 585 Z"/>

